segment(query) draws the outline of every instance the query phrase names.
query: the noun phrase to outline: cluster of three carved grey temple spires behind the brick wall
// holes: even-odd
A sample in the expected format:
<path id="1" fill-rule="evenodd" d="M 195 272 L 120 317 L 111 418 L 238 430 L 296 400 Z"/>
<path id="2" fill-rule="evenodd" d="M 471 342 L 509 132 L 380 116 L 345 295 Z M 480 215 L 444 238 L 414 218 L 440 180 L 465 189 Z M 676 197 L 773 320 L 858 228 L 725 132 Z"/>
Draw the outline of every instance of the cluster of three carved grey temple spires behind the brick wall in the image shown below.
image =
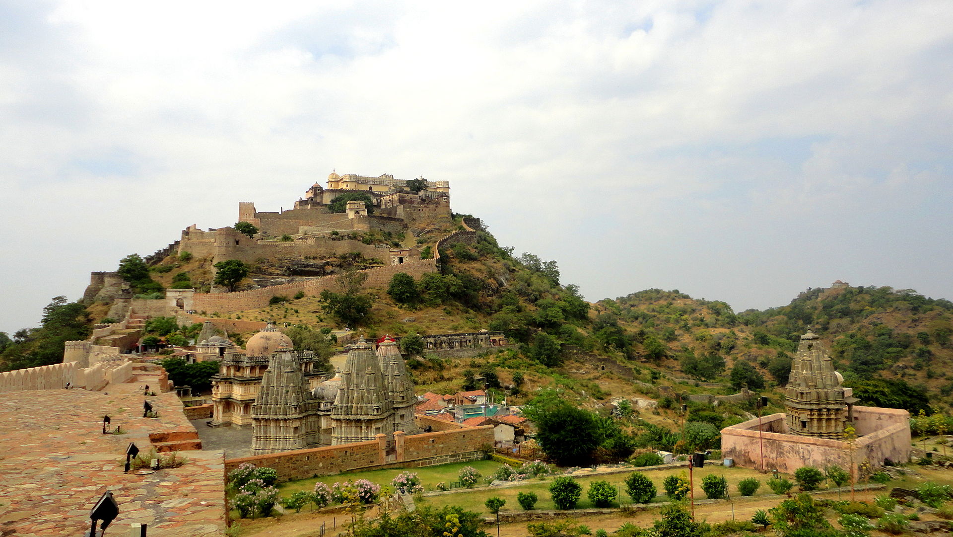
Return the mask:
<path id="1" fill-rule="evenodd" d="M 271 357 L 252 407 L 255 455 L 330 444 L 378 440 L 395 431 L 419 432 L 414 383 L 393 339 L 375 350 L 361 339 L 351 346 L 340 378 L 309 390 L 298 353 L 287 345 Z"/>

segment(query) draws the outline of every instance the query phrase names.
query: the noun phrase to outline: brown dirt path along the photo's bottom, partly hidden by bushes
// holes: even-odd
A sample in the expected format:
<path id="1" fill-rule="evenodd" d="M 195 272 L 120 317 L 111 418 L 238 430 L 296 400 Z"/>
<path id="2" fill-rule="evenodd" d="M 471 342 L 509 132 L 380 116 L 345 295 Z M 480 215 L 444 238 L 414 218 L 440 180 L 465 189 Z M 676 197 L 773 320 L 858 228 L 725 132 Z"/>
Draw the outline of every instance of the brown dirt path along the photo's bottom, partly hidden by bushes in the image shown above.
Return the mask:
<path id="1" fill-rule="evenodd" d="M 857 500 L 869 502 L 882 490 L 867 490 L 857 492 Z M 837 499 L 837 492 L 822 492 L 815 495 L 816 498 Z M 841 494 L 841 499 L 847 500 L 850 493 Z M 737 499 L 734 501 L 734 518 L 736 520 L 748 520 L 758 509 L 769 509 L 777 506 L 781 502 L 780 496 L 756 496 L 755 499 Z M 374 511 L 365 514 L 365 518 L 370 519 L 375 516 Z M 703 504 L 695 507 L 695 516 L 704 519 L 709 523 L 715 524 L 732 519 L 732 505 L 728 502 L 717 502 L 714 504 Z M 634 514 L 610 514 L 596 515 L 589 517 L 578 517 L 575 520 L 579 524 L 591 527 L 594 531 L 602 528 L 612 532 L 627 522 L 631 522 L 640 527 L 649 527 L 652 522 L 659 518 L 658 509 L 639 511 Z M 240 521 L 242 531 L 241 537 L 317 537 L 320 535 L 321 524 L 325 524 L 325 536 L 334 537 L 344 534 L 344 523 L 350 522 L 350 517 L 345 513 L 323 513 L 307 511 L 301 513 L 290 513 L 279 518 L 268 518 L 260 520 Z M 337 529 L 335 530 L 335 524 Z M 496 535 L 495 527 L 485 527 L 487 533 Z M 512 524 L 501 524 L 499 526 L 500 537 L 526 537 L 529 531 L 526 530 L 525 522 Z"/>

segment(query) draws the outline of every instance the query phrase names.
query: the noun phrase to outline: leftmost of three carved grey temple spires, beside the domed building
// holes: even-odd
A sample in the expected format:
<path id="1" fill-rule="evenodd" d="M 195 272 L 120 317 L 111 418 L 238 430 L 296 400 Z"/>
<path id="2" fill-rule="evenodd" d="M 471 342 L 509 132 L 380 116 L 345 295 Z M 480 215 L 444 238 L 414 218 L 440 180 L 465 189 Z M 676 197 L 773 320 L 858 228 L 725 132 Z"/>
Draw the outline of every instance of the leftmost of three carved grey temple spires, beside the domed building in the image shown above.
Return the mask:
<path id="1" fill-rule="evenodd" d="M 318 403 L 312 399 L 291 347 L 282 343 L 272 354 L 252 406 L 252 452 L 255 455 L 305 449 L 320 442 Z"/>

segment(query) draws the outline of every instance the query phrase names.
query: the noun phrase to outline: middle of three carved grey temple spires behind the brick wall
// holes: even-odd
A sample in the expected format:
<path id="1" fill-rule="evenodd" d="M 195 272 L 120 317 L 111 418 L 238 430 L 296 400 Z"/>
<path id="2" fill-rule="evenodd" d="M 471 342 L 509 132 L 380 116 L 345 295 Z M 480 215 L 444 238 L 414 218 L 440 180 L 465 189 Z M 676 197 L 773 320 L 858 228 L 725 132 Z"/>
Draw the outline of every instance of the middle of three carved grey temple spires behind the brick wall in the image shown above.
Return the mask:
<path id="1" fill-rule="evenodd" d="M 394 406 L 377 355 L 363 338 L 351 347 L 331 410 L 331 444 L 393 439 Z"/>

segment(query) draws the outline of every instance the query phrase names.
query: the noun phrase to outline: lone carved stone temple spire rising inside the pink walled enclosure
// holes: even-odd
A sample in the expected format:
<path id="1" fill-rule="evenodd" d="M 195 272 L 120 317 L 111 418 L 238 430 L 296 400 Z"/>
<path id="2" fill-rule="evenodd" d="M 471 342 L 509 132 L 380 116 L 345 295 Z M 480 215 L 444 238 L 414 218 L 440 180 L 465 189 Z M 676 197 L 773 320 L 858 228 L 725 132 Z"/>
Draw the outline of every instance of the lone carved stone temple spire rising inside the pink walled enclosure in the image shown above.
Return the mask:
<path id="1" fill-rule="evenodd" d="M 841 375 L 821 348 L 817 334 L 801 336 L 798 355 L 784 390 L 787 432 L 840 440 L 847 422 L 847 399 Z"/>

